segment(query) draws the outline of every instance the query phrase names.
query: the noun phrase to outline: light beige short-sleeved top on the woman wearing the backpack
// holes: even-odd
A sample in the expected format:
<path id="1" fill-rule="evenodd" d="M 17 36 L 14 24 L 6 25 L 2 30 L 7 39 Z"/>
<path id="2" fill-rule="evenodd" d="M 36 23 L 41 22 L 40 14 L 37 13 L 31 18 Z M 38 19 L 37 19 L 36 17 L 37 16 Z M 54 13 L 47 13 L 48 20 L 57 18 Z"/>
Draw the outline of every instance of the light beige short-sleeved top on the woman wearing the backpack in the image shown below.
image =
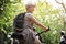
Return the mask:
<path id="1" fill-rule="evenodd" d="M 30 20 L 32 18 L 32 13 L 25 13 L 24 16 L 24 29 L 33 29 L 33 22 Z"/>

